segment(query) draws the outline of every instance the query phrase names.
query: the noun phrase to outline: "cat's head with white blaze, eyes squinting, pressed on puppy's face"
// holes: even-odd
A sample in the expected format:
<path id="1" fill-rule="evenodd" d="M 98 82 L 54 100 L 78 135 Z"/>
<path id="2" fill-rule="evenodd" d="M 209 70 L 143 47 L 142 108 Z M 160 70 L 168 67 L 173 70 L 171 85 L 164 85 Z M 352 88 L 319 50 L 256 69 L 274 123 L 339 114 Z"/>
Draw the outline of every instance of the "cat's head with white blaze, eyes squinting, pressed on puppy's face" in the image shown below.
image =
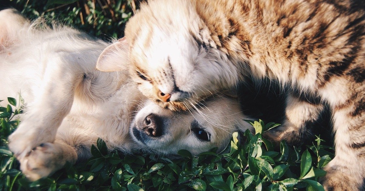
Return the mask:
<path id="1" fill-rule="evenodd" d="M 139 90 L 170 110 L 187 110 L 232 87 L 237 69 L 190 8 L 180 0 L 142 5 L 128 21 L 125 37 L 101 54 L 97 69 L 130 70 Z"/>

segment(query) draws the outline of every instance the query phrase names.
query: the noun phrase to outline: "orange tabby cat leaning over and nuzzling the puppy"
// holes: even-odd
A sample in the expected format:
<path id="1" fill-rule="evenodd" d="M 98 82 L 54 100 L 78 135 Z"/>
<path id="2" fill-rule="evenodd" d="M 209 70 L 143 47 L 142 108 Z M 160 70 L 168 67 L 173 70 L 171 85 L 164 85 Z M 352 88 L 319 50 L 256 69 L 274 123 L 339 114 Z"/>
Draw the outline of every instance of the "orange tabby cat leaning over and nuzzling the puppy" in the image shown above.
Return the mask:
<path id="1" fill-rule="evenodd" d="M 365 11 L 361 0 L 156 0 L 130 19 L 103 55 L 129 55 L 139 89 L 172 110 L 264 77 L 287 88 L 286 121 L 269 137 L 300 141 L 323 104 L 333 112 L 336 156 L 327 190 L 365 178 Z M 108 59 L 100 60 L 101 70 Z M 133 77 L 133 76 L 132 76 Z"/>

